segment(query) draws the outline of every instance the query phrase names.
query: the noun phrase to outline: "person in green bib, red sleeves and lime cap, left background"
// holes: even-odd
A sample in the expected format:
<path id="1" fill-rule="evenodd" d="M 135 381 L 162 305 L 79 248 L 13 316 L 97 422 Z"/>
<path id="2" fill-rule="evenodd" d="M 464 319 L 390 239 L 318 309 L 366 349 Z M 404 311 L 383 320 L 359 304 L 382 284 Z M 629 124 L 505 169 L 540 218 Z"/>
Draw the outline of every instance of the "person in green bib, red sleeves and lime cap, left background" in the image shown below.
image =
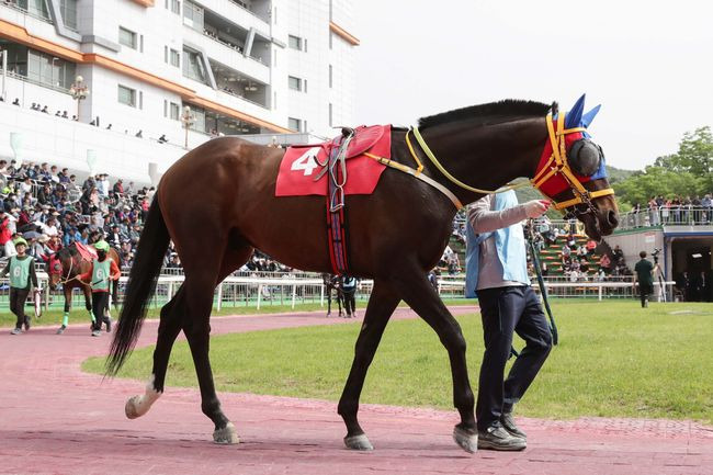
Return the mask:
<path id="1" fill-rule="evenodd" d="M 116 262 L 106 257 L 106 252 L 109 252 L 106 241 L 100 240 L 94 245 L 94 249 L 97 249 L 97 259 L 92 261 L 91 269 L 79 275 L 77 280 L 92 287 L 92 313 L 94 314 L 92 337 L 99 337 L 102 333 L 102 324 L 106 324 L 106 332 L 112 331 L 112 321 L 106 316 L 110 281 L 118 280 L 122 272 Z"/>

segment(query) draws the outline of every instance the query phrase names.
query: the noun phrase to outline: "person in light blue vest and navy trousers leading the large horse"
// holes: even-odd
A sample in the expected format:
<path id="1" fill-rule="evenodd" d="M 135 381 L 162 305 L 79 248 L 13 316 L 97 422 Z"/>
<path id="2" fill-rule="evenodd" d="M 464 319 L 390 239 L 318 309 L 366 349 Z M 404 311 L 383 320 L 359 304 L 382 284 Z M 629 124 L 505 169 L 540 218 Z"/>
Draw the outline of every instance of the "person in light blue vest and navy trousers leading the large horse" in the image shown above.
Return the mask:
<path id="1" fill-rule="evenodd" d="M 516 426 L 512 410 L 547 358 L 552 335 L 530 286 L 520 222 L 540 217 L 548 207 L 550 202 L 541 200 L 520 205 L 508 191 L 486 195 L 468 211 L 466 296 L 477 293 L 485 337 L 476 405 L 478 449 L 527 446 L 527 434 Z M 503 383 L 513 331 L 527 346 Z"/>

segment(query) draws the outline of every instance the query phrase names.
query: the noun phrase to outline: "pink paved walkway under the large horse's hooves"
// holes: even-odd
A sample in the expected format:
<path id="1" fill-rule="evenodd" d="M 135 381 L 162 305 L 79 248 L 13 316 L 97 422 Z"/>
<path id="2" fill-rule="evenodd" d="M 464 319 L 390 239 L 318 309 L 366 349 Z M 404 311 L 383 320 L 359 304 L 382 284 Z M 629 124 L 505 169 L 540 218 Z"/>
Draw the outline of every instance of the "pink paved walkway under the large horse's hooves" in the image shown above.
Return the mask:
<path id="1" fill-rule="evenodd" d="M 223 317 L 213 331 L 325 321 Z M 145 325 L 140 346 L 155 341 L 156 327 Z M 0 474 L 713 474 L 713 428 L 694 422 L 522 419 L 527 451 L 468 455 L 451 441 L 455 411 L 365 405 L 361 420 L 376 450 L 356 453 L 343 449 L 335 403 L 249 394 L 220 395 L 244 442 L 218 446 L 195 389 L 168 388 L 147 416 L 127 420 L 124 403 L 144 383 L 82 373 L 81 361 L 105 354 L 110 341 L 88 333 L 84 325 L 61 337 L 2 329 Z"/>

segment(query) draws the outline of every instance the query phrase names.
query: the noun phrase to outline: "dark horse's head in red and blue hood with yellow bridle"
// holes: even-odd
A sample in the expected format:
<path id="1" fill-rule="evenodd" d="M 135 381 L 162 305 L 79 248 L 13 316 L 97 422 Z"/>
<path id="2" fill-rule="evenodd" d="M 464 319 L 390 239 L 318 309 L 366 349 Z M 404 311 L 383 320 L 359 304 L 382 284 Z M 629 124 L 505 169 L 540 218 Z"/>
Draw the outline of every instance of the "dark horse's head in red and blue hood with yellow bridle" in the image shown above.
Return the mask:
<path id="1" fill-rule="evenodd" d="M 619 224 L 604 154 L 587 132 L 599 109 L 585 113 L 585 95 L 566 114 L 553 106 L 546 117 L 548 139 L 531 180 L 565 217 L 581 220 L 595 240 L 612 234 Z"/>

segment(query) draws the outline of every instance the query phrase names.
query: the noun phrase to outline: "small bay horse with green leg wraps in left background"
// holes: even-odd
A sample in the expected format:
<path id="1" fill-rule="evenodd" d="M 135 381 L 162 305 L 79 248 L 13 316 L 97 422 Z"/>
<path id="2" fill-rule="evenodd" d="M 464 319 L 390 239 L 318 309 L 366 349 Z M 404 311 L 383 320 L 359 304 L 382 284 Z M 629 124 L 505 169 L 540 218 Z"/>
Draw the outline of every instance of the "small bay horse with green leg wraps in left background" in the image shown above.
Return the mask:
<path id="1" fill-rule="evenodd" d="M 122 260 L 116 252 L 116 249 L 110 248 L 109 253 L 106 255 L 110 259 L 113 259 L 116 262 L 116 265 L 122 265 Z M 77 276 L 88 272 L 91 268 L 91 261 L 83 259 L 77 246 L 75 244 L 69 245 L 68 247 L 59 249 L 54 255 L 44 258 L 46 272 L 49 276 L 48 284 L 52 291 L 56 290 L 59 284 L 61 284 L 63 294 L 65 296 L 65 315 L 63 318 L 61 326 L 57 329 L 57 335 L 65 332 L 67 324 L 69 323 L 69 313 L 71 310 L 71 298 L 72 291 L 75 289 L 81 289 L 82 294 L 84 294 L 84 308 L 89 312 L 89 318 L 92 319 L 92 291 L 91 286 L 82 284 L 79 282 Z M 114 281 L 112 285 L 112 301 L 114 306 L 118 304 L 118 281 Z"/>

